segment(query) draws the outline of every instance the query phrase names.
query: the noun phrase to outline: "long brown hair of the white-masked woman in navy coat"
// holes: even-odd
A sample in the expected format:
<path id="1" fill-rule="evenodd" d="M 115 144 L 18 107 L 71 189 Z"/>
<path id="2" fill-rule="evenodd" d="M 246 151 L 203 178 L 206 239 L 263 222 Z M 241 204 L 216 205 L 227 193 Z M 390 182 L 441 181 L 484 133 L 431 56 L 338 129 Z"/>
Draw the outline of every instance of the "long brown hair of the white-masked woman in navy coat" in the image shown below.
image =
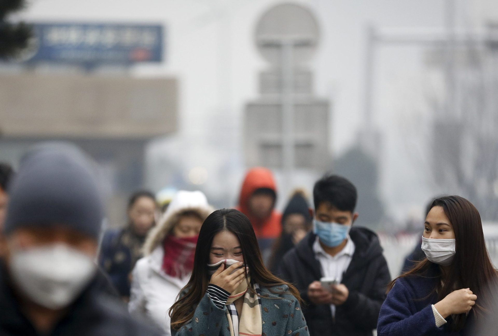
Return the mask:
<path id="1" fill-rule="evenodd" d="M 481 216 L 472 203 L 460 196 L 437 198 L 432 202 L 430 209 L 434 207 L 443 208 L 446 217 L 453 226 L 456 253 L 453 262 L 448 267 L 447 274 L 443 276 L 440 268 L 437 268 L 439 278 L 442 281 L 437 281 L 437 285 L 429 296 L 437 292 L 437 300 L 441 301 L 456 289 L 470 288 L 478 297 L 471 314 L 480 318 L 487 311 L 487 308 L 492 307 L 495 302 L 488 289 L 496 285 L 498 280 L 498 273 L 486 248 Z M 424 276 L 433 266 L 434 264 L 426 257 L 423 258 L 411 270 L 391 281 L 388 285 L 388 291 L 394 286 L 397 279 L 410 275 Z M 451 328 L 454 331 L 462 330 L 466 320 L 466 314 L 457 315 L 451 322 Z"/>

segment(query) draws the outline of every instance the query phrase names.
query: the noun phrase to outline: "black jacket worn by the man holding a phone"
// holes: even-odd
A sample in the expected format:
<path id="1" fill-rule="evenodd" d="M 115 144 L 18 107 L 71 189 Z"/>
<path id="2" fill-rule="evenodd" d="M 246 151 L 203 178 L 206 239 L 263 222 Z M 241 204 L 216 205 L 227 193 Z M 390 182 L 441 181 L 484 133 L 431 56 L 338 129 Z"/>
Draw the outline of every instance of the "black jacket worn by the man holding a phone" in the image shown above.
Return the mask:
<path id="1" fill-rule="evenodd" d="M 297 287 L 307 304 L 303 306 L 303 313 L 311 336 L 371 336 L 376 328 L 391 279 L 389 270 L 373 231 L 353 226 L 350 236 L 356 249 L 342 280 L 349 297 L 343 305 L 336 307 L 335 321 L 329 305 L 316 306 L 310 303 L 307 295 L 308 286 L 322 277 L 320 262 L 313 252 L 316 235 L 310 232 L 283 258 L 281 277 Z"/>

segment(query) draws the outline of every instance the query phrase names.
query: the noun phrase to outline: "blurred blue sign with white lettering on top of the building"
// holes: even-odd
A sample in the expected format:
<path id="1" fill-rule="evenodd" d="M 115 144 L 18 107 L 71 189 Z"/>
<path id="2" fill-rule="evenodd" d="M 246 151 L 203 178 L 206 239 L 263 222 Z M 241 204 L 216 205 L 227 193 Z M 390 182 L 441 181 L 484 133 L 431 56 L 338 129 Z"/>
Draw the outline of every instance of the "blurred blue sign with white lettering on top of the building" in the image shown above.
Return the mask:
<path id="1" fill-rule="evenodd" d="M 163 27 L 140 24 L 33 23 L 29 63 L 88 65 L 161 62 Z"/>

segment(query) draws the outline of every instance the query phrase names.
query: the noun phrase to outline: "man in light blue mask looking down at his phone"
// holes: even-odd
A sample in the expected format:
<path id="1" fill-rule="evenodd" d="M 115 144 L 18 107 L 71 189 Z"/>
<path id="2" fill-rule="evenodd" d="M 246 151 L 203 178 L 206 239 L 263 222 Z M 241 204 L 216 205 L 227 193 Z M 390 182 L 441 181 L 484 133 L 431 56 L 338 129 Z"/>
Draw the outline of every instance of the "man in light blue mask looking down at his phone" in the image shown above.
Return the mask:
<path id="1" fill-rule="evenodd" d="M 313 188 L 313 231 L 281 264 L 296 285 L 311 336 L 371 336 L 390 281 L 377 235 L 353 226 L 357 191 L 326 175 Z"/>

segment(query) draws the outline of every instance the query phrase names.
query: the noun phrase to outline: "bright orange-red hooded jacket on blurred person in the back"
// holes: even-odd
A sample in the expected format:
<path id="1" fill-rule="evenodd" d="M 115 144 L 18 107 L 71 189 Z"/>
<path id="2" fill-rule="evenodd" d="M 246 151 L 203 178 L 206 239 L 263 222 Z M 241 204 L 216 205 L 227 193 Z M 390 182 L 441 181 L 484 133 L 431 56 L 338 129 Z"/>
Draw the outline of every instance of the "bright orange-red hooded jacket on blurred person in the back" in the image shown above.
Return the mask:
<path id="1" fill-rule="evenodd" d="M 282 225 L 280 224 L 282 215 L 279 212 L 273 209 L 269 217 L 260 220 L 252 216 L 249 211 L 249 198 L 260 188 L 271 189 L 276 194 L 273 174 L 266 168 L 252 168 L 244 179 L 237 210 L 249 218 L 257 238 L 277 238 L 282 231 Z"/>

